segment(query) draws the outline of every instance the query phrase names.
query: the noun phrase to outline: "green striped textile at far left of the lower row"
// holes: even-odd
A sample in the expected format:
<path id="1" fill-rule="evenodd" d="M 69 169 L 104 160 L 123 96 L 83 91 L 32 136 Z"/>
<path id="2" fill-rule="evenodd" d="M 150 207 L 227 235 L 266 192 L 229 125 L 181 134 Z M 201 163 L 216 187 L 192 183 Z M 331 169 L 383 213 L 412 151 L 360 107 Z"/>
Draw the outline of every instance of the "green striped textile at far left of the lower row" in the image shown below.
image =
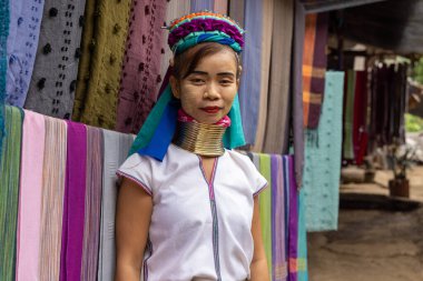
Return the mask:
<path id="1" fill-rule="evenodd" d="M 0 280 L 16 279 L 16 237 L 19 205 L 20 155 L 23 111 L 4 108 L 6 138 L 0 164 Z"/>

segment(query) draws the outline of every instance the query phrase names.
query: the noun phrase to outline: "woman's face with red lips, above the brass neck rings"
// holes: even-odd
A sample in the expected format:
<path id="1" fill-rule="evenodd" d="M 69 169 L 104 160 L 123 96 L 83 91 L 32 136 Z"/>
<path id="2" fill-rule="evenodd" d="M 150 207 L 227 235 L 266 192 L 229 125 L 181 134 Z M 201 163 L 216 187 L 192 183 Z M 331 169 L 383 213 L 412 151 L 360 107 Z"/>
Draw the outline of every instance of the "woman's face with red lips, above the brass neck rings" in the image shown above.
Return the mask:
<path id="1" fill-rule="evenodd" d="M 186 113 L 201 123 L 216 123 L 225 117 L 238 91 L 237 63 L 230 50 L 203 58 L 194 71 L 177 81 L 171 77 L 174 96 Z"/>

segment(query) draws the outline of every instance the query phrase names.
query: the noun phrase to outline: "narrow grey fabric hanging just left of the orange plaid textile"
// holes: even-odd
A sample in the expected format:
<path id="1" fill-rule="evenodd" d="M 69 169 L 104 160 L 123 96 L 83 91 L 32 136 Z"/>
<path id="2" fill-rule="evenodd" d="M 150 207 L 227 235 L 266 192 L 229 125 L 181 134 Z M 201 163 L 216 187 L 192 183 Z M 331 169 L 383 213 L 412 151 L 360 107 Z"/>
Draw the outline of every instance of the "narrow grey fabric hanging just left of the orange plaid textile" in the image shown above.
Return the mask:
<path id="1" fill-rule="evenodd" d="M 303 50 L 305 32 L 305 10 L 302 3 L 295 2 L 294 48 L 293 48 L 293 128 L 295 151 L 295 178 L 298 188 L 302 185 L 304 165 L 304 122 L 303 122 Z"/>

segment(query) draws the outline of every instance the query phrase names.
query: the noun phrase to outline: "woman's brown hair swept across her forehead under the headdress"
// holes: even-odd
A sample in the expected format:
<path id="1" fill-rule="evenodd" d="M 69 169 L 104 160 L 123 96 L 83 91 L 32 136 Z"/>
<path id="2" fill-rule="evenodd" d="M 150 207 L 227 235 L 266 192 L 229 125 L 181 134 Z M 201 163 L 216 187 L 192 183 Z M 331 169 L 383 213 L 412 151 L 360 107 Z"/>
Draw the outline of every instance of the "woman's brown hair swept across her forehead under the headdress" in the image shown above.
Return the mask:
<path id="1" fill-rule="evenodd" d="M 185 52 L 175 56 L 173 74 L 176 79 L 185 79 L 194 72 L 200 60 L 205 57 L 218 53 L 220 51 L 229 51 L 234 53 L 236 62 L 236 78 L 239 78 L 239 57 L 228 46 L 216 42 L 205 42 L 193 47 Z"/>

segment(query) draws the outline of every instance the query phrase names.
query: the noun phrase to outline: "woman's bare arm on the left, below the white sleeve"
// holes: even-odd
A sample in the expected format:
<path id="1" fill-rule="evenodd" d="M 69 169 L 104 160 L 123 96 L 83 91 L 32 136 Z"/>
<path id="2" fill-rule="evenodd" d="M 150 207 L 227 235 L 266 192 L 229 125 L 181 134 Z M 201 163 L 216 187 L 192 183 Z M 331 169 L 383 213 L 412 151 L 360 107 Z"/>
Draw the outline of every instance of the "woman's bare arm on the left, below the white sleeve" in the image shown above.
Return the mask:
<path id="1" fill-rule="evenodd" d="M 115 281 L 139 281 L 153 212 L 153 199 L 124 178 L 116 210 Z"/>

